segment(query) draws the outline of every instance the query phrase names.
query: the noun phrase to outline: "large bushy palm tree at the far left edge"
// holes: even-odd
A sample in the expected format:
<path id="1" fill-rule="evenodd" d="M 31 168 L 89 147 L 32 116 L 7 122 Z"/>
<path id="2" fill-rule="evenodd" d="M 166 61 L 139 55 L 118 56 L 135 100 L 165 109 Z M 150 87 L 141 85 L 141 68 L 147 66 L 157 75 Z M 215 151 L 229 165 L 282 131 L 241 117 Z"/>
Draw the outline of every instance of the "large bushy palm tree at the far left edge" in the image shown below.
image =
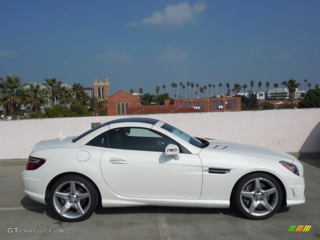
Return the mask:
<path id="1" fill-rule="evenodd" d="M 21 85 L 20 76 L 7 75 L 6 80 L 0 77 L 0 104 L 4 107 L 4 115 L 6 108 L 12 119 L 17 119 L 17 113 L 21 110 L 21 105 L 28 100 L 27 92 Z"/>

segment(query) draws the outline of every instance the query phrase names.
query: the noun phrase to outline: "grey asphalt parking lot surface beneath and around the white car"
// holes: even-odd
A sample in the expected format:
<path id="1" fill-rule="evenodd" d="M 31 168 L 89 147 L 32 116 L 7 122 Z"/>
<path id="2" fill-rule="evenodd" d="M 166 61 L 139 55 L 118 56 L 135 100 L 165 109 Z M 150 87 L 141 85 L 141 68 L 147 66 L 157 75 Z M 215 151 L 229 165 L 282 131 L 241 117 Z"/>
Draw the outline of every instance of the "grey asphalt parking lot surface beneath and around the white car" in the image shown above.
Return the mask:
<path id="1" fill-rule="evenodd" d="M 320 159 L 301 161 L 306 203 L 267 220 L 247 220 L 229 209 L 147 206 L 98 208 L 88 220 L 68 223 L 25 196 L 21 172 L 26 160 L 1 160 L 0 239 L 320 239 Z M 292 225 L 311 228 L 288 232 Z"/>

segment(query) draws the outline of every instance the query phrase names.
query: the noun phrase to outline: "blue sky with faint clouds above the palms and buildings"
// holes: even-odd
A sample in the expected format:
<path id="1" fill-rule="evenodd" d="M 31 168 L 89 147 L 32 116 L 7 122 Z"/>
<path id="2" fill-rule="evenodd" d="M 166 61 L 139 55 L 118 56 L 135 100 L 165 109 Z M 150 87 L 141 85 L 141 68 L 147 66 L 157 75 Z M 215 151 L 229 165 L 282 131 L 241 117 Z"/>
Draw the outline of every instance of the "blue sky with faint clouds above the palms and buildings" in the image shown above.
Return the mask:
<path id="1" fill-rule="evenodd" d="M 292 78 L 314 88 L 319 12 L 319 0 L 3 0 L 0 76 L 84 87 L 107 77 L 111 94 L 163 93 L 163 84 L 171 93 L 172 82 L 187 81 L 215 92 L 219 83 L 253 80 L 257 91 L 261 81 L 264 91 Z"/>

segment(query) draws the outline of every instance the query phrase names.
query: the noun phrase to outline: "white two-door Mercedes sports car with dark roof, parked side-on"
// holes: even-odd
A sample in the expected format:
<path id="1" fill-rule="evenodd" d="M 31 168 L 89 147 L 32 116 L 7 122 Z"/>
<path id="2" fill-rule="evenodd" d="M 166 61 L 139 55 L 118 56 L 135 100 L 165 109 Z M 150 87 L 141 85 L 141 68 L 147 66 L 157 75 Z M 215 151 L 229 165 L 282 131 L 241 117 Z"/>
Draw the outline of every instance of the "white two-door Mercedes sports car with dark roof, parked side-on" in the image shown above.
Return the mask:
<path id="1" fill-rule="evenodd" d="M 266 219 L 305 202 L 303 167 L 281 152 L 194 138 L 151 118 L 117 119 L 38 142 L 22 173 L 33 200 L 64 221 L 103 207 L 236 207 Z"/>

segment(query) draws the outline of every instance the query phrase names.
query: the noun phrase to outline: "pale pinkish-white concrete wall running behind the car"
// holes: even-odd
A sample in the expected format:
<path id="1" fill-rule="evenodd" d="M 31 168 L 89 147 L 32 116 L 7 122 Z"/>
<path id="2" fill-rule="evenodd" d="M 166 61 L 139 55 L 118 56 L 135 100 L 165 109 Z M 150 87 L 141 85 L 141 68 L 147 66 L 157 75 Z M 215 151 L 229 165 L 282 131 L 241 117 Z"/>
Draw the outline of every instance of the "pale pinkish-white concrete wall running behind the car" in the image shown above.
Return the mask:
<path id="1" fill-rule="evenodd" d="M 257 145 L 284 152 L 320 152 L 320 109 L 152 114 L 193 136 Z M 0 159 L 27 158 L 34 144 L 59 133 L 76 136 L 93 122 L 121 116 L 0 121 Z"/>

